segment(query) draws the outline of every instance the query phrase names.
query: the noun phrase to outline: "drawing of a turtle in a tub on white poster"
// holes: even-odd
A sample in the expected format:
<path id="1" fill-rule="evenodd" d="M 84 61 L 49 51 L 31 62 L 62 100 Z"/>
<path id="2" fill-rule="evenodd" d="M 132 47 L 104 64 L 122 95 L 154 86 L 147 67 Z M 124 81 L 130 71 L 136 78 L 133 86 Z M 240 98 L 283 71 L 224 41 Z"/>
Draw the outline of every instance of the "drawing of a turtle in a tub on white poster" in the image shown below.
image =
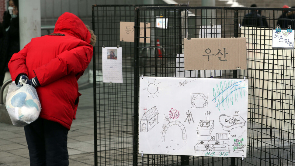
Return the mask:
<path id="1" fill-rule="evenodd" d="M 243 127 L 246 123 L 245 120 L 239 115 L 227 116 L 225 114 L 219 116 L 219 122 L 223 130 L 228 132 L 230 132 L 231 129 Z"/>

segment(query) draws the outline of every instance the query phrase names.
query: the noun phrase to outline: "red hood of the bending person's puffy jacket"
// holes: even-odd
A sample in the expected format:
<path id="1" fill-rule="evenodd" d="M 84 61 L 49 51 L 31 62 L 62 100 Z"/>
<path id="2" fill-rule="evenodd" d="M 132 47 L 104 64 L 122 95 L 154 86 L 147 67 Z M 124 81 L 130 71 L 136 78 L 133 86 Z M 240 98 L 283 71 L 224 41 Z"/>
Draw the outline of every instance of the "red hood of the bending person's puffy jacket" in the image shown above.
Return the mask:
<path id="1" fill-rule="evenodd" d="M 61 31 L 69 32 L 78 39 L 90 43 L 90 32 L 88 31 L 82 20 L 72 13 L 65 12 L 58 17 L 55 23 L 54 33 Z"/>

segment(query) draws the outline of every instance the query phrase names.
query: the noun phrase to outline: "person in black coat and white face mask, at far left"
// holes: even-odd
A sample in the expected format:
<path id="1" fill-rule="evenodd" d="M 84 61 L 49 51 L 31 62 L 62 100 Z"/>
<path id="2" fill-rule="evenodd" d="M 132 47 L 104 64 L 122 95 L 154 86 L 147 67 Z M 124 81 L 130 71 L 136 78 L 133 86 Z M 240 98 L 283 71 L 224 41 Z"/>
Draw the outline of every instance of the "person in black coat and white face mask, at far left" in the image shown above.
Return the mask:
<path id="1" fill-rule="evenodd" d="M 0 86 L 11 78 L 7 65 L 12 55 L 19 52 L 19 1 L 9 0 L 8 3 L 0 26 Z"/>

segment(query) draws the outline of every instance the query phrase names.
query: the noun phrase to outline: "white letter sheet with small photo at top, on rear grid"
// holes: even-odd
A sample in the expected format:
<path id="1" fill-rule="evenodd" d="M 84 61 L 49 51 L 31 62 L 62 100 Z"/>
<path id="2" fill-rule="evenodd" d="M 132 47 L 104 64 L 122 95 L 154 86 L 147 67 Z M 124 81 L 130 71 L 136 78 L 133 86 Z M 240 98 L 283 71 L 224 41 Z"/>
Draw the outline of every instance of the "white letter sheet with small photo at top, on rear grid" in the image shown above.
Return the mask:
<path id="1" fill-rule="evenodd" d="M 123 83 L 122 47 L 102 47 L 102 78 L 104 83 Z"/>

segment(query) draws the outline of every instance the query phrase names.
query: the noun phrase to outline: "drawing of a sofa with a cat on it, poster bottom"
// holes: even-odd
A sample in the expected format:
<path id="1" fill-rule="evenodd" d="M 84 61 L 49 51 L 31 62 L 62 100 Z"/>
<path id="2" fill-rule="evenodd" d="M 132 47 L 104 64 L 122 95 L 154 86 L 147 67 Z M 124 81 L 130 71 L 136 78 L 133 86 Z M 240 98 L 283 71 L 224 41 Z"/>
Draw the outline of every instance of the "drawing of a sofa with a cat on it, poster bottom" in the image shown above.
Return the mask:
<path id="1" fill-rule="evenodd" d="M 223 141 L 198 141 L 195 145 L 196 151 L 225 151 L 228 150 L 228 145 Z"/>

